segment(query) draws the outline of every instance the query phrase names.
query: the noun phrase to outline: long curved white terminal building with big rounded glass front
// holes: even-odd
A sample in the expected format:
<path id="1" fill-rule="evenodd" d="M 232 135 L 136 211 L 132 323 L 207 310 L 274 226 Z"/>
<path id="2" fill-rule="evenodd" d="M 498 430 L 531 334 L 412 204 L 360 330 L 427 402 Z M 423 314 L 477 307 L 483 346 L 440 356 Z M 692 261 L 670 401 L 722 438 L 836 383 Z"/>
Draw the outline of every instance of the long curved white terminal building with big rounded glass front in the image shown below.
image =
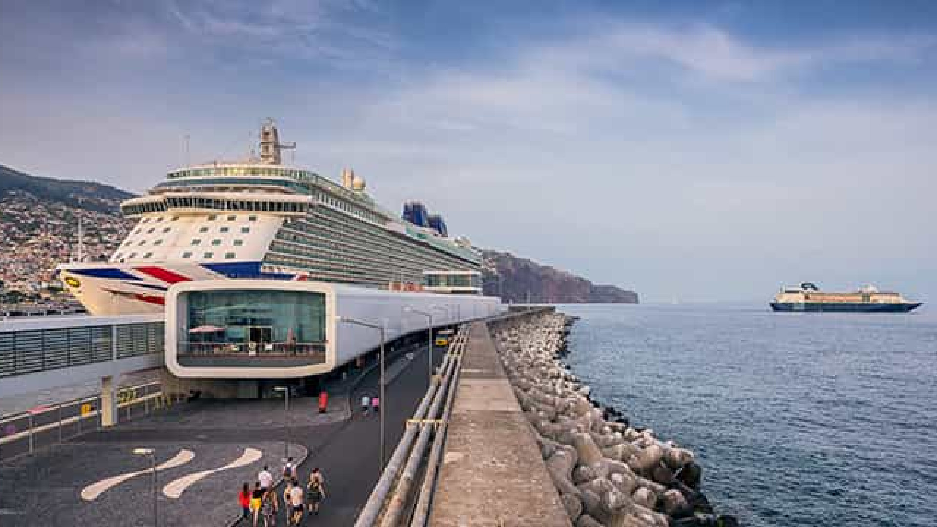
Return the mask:
<path id="1" fill-rule="evenodd" d="M 313 281 L 216 279 L 179 282 L 166 295 L 166 366 L 177 377 L 286 379 L 320 375 L 385 339 L 433 325 L 490 316 L 498 298 L 398 293 Z"/>

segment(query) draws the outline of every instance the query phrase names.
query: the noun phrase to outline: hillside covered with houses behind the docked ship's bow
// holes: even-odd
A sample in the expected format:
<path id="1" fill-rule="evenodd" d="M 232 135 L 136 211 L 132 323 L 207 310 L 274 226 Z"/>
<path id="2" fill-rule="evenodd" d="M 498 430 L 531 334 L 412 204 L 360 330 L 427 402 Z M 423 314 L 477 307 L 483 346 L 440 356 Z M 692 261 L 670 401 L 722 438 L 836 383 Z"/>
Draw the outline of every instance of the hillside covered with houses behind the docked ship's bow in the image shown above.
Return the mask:
<path id="1" fill-rule="evenodd" d="M 22 190 L 0 196 L 0 298 L 7 305 L 67 302 L 55 266 L 107 260 L 132 222 L 112 213 L 39 199 Z"/>

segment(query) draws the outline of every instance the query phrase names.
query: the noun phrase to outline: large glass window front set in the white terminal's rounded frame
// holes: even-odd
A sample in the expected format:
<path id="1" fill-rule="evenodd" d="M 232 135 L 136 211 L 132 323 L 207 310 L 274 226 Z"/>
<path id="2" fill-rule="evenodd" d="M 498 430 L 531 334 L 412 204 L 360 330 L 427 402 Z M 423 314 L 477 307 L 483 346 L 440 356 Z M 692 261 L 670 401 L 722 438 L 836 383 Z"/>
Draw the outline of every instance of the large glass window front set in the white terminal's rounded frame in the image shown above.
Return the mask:
<path id="1" fill-rule="evenodd" d="M 183 340 L 225 345 L 226 351 L 295 352 L 325 341 L 325 295 L 276 290 L 194 291 Z"/>

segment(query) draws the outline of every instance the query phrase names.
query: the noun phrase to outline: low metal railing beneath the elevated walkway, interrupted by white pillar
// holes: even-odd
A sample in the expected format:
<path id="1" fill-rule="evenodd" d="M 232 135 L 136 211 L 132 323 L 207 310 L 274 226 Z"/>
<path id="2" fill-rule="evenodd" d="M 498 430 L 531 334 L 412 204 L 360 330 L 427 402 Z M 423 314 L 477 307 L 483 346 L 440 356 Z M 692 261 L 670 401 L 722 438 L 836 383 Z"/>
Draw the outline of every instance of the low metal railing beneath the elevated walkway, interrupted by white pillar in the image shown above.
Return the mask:
<path id="1" fill-rule="evenodd" d="M 124 386 L 117 390 L 114 419 L 125 423 L 150 414 L 170 401 L 159 382 Z M 40 406 L 0 418 L 0 460 L 33 454 L 40 448 L 61 444 L 100 429 L 100 394 Z"/>

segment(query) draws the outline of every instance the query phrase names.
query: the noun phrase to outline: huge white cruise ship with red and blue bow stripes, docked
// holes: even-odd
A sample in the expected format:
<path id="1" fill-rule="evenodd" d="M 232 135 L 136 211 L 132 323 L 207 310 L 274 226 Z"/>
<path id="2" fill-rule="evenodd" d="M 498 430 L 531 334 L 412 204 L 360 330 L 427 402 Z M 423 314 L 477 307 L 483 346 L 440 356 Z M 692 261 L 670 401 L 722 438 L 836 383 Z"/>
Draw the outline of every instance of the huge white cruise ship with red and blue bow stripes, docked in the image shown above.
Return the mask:
<path id="1" fill-rule="evenodd" d="M 259 156 L 168 173 L 121 204 L 139 220 L 110 260 L 60 265 L 63 283 L 95 315 L 160 312 L 172 284 L 203 279 L 481 294 L 481 255 L 441 217 L 422 203 L 394 215 L 350 170 L 339 184 L 286 166 L 291 146 L 268 121 Z"/>

